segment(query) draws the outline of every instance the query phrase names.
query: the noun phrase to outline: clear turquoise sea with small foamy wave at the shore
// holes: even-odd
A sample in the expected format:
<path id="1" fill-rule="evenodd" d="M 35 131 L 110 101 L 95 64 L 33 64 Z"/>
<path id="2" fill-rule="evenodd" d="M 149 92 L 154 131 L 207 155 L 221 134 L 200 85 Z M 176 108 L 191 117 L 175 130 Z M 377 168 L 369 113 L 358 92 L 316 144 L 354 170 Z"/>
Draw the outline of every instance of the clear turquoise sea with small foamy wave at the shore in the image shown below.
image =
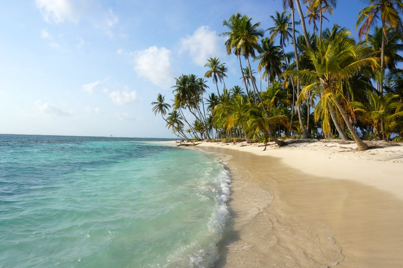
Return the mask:
<path id="1" fill-rule="evenodd" d="M 224 156 L 163 139 L 0 135 L 0 267 L 211 267 Z"/>

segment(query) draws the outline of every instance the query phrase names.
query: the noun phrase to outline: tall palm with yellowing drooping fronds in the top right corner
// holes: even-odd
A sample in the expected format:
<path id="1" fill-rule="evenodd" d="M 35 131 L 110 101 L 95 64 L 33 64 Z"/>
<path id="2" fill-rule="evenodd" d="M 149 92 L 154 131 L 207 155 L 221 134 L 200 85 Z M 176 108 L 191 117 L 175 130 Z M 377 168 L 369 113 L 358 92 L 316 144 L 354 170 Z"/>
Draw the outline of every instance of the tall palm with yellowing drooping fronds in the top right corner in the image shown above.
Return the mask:
<path id="1" fill-rule="evenodd" d="M 382 44 L 381 44 L 381 78 L 379 81 L 379 92 L 383 94 L 383 78 L 385 68 L 385 43 L 387 40 L 387 26 L 393 29 L 401 31 L 403 29 L 400 13 L 403 11 L 402 0 L 365 0 L 369 6 L 362 9 L 358 13 L 358 20 L 356 24 L 356 30 L 362 23 L 358 31 L 360 39 L 368 36 L 369 30 L 376 25 L 376 21 L 379 19 L 382 23 Z"/>

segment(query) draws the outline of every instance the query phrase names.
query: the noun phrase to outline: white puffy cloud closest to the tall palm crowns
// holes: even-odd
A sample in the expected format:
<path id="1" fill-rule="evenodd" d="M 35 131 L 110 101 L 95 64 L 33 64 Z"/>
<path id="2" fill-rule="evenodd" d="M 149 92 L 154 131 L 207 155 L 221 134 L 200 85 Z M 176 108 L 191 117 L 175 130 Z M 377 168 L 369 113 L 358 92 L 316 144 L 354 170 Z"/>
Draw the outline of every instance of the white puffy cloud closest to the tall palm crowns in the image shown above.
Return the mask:
<path id="1" fill-rule="evenodd" d="M 204 66 L 209 57 L 221 56 L 224 39 L 211 31 L 208 26 L 200 26 L 192 36 L 180 39 L 179 54 L 188 52 L 193 62 Z"/>

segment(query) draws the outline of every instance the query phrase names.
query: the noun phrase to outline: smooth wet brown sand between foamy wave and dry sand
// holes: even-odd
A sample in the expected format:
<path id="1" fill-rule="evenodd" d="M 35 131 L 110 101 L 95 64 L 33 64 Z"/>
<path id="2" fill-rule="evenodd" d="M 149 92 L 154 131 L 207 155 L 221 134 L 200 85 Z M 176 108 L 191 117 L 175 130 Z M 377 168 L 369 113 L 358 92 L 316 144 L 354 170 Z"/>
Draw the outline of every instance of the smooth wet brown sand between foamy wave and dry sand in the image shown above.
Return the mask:
<path id="1" fill-rule="evenodd" d="M 271 156 L 197 147 L 233 156 L 232 217 L 216 267 L 403 265 L 403 200 L 396 194 L 337 174 L 304 173 Z"/>

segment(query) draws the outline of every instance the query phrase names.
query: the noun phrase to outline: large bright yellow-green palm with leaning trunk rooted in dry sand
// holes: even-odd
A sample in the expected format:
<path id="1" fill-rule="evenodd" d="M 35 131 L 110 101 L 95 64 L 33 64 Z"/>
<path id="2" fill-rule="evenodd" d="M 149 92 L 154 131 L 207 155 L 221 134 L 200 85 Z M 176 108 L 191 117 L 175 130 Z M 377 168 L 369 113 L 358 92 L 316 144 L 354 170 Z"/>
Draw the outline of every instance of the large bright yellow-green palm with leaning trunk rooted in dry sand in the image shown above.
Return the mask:
<path id="1" fill-rule="evenodd" d="M 305 86 L 298 101 L 304 100 L 307 93 L 317 91 L 317 95 L 325 98 L 330 104 L 334 104 L 342 115 L 360 151 L 368 150 L 369 147 L 358 136 L 352 125 L 344 105 L 349 105 L 345 98 L 345 85 L 349 79 L 363 68 L 376 70 L 379 68 L 376 58 L 363 58 L 366 48 L 363 45 L 355 45 L 350 39 L 349 31 L 337 33 L 332 40 L 317 40 L 317 50 L 307 50 L 308 58 L 312 61 L 314 69 L 303 71 L 289 71 L 301 79 L 309 82 Z M 324 108 L 329 106 L 324 106 Z"/>

